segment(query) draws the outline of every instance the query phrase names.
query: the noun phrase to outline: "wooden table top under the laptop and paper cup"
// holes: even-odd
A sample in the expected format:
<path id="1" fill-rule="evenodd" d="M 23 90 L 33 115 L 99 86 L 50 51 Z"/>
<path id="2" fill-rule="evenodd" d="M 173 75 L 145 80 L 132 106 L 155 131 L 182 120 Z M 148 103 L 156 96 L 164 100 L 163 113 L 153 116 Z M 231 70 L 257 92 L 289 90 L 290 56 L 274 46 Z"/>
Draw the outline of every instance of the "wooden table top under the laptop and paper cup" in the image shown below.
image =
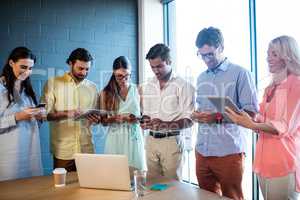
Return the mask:
<path id="1" fill-rule="evenodd" d="M 227 199 L 176 180 L 160 180 L 169 183 L 164 191 L 146 191 L 142 200 L 215 200 Z M 132 200 L 133 192 L 80 188 L 77 174 L 68 173 L 67 185 L 55 188 L 52 176 L 0 182 L 0 200 Z"/>

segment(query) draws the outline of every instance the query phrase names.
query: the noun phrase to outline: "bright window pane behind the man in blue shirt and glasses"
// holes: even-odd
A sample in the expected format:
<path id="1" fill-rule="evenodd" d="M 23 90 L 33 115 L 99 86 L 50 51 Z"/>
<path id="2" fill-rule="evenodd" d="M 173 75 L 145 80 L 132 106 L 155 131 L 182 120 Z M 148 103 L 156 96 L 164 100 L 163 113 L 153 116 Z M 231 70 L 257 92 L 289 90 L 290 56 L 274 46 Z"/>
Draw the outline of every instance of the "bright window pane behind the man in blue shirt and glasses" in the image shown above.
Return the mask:
<path id="1" fill-rule="evenodd" d="M 195 84 L 205 64 L 196 56 L 198 32 L 209 26 L 221 29 L 225 40 L 224 54 L 228 59 L 250 71 L 250 31 L 248 1 L 241 0 L 177 0 L 176 1 L 176 70 Z M 196 139 L 193 127 L 192 145 Z M 252 199 L 252 133 L 245 131 L 248 150 L 243 188 L 245 198 Z M 189 149 L 190 150 L 190 149 Z M 186 151 L 184 179 L 197 184 L 194 149 Z M 188 169 L 189 168 L 189 169 Z"/>

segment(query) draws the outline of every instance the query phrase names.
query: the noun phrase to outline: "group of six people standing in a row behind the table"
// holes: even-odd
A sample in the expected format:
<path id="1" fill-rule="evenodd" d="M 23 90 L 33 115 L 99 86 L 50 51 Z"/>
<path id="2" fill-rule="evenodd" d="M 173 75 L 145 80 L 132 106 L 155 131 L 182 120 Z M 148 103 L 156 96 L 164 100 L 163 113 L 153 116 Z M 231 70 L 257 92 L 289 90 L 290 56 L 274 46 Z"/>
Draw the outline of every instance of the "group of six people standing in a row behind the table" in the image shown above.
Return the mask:
<path id="1" fill-rule="evenodd" d="M 156 44 L 146 55 L 154 77 L 137 86 L 130 82 L 131 64 L 120 56 L 104 89 L 86 77 L 92 56 L 75 49 L 70 70 L 47 81 L 38 107 L 30 75 L 35 55 L 17 47 L 0 77 L 0 180 L 42 174 L 38 123 L 48 120 L 53 167 L 75 171 L 73 154 L 94 153 L 91 126 L 107 126 L 104 153 L 125 154 L 130 170 L 149 177 L 180 179 L 182 133 L 198 124 L 195 147 L 199 187 L 233 199 L 244 199 L 242 177 L 245 128 L 258 134 L 253 169 L 265 199 L 297 199 L 300 192 L 300 53 L 289 36 L 273 39 L 267 61 L 272 81 L 258 106 L 251 74 L 224 56 L 221 31 L 202 29 L 196 39 L 207 66 L 196 89 L 172 70 L 170 49 Z M 207 96 L 228 96 L 242 110 L 218 113 Z M 76 120 L 84 110 L 101 109 Z M 224 114 L 234 123 L 228 123 Z M 147 134 L 145 134 L 147 133 Z M 144 144 L 144 137 L 145 144 Z M 97 166 L 95 166 L 97 167 Z"/>

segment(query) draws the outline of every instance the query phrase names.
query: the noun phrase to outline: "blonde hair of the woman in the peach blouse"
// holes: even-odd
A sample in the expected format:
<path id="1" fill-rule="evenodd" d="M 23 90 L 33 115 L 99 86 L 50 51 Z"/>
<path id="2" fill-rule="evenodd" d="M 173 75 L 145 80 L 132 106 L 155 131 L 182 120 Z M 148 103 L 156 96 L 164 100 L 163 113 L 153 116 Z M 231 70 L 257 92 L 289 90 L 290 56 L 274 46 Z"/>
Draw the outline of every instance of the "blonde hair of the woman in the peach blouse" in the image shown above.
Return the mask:
<path id="1" fill-rule="evenodd" d="M 272 82 L 276 82 L 276 79 L 280 79 L 282 76 L 287 76 L 289 74 L 294 74 L 300 76 L 300 49 L 297 41 L 291 37 L 282 35 L 274 38 L 270 44 L 269 48 L 273 48 L 277 55 L 284 60 L 286 69 L 282 73 L 272 74 Z"/>

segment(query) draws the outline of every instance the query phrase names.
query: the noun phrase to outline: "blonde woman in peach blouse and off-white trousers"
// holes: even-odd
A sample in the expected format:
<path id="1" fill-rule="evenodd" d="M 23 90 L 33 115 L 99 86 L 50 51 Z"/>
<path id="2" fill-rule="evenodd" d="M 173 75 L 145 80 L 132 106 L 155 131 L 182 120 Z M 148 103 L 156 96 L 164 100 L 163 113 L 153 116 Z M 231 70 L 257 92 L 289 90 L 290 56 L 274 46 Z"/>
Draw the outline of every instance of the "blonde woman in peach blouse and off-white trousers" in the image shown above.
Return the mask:
<path id="1" fill-rule="evenodd" d="M 295 39 L 273 39 L 267 61 L 272 82 L 265 89 L 257 121 L 229 108 L 226 114 L 259 135 L 253 168 L 264 199 L 296 200 L 300 192 L 300 54 Z"/>

